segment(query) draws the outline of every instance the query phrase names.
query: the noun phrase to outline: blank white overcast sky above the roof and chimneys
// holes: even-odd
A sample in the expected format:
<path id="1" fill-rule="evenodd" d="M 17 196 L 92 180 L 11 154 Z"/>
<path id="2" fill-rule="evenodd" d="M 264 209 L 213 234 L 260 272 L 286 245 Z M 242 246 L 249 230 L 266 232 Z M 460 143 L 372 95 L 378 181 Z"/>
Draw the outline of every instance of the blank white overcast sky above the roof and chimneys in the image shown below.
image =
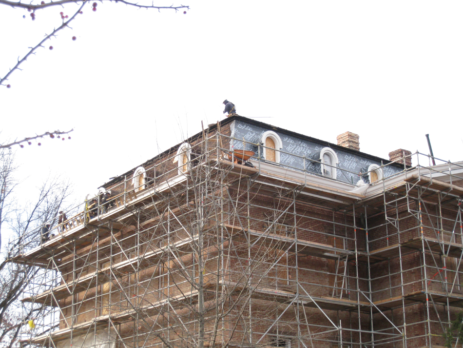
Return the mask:
<path id="1" fill-rule="evenodd" d="M 225 99 L 241 116 L 331 143 L 357 133 L 361 151 L 381 158 L 428 154 L 429 134 L 436 157 L 463 160 L 461 0 L 181 1 L 155 3 L 186 14 L 89 3 L 0 86 L 0 143 L 74 129 L 71 140 L 16 148 L 19 200 L 49 174 L 83 200 L 201 121 L 222 120 Z M 0 76 L 76 9 L 32 21 L 0 5 Z"/>

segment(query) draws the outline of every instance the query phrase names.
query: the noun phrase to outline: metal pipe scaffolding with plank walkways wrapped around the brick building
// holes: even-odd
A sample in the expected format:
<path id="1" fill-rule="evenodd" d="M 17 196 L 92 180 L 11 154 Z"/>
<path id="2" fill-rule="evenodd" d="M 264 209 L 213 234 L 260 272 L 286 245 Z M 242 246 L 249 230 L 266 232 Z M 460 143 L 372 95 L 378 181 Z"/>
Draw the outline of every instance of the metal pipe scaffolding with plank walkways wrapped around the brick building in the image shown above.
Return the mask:
<path id="1" fill-rule="evenodd" d="M 444 345 L 463 307 L 461 164 L 416 153 L 347 190 L 238 141 L 211 125 L 48 222 L 49 240 L 12 242 L 11 262 L 38 269 L 21 344 Z"/>

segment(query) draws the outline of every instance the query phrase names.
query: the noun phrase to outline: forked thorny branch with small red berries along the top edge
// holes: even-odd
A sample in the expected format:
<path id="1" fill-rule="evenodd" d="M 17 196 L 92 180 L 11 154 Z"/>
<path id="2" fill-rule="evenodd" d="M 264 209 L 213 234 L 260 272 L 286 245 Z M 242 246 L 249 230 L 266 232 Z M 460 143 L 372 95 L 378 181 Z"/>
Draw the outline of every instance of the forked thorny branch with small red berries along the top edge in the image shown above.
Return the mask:
<path id="1" fill-rule="evenodd" d="M 104 2 L 116 2 L 116 3 L 120 2 L 120 3 L 123 3 L 125 5 L 134 6 L 136 8 L 156 9 L 158 11 L 161 11 L 161 10 L 174 10 L 175 12 L 177 12 L 177 11 L 184 10 L 183 14 L 186 14 L 187 13 L 186 10 L 190 9 L 189 6 L 185 6 L 185 5 L 155 6 L 154 3 L 152 3 L 151 5 L 142 5 L 142 4 L 139 4 L 137 2 L 131 2 L 131 1 L 127 1 L 127 0 L 100 0 L 100 2 L 103 2 L 103 1 Z M 13 7 L 13 8 L 27 9 L 27 11 L 30 12 L 30 17 L 31 17 L 32 20 L 36 19 L 36 11 L 38 11 L 38 10 L 44 10 L 44 9 L 48 9 L 48 8 L 51 8 L 51 7 L 54 7 L 54 6 L 64 6 L 64 5 L 68 4 L 68 3 L 80 3 L 80 1 L 76 1 L 76 0 L 58 0 L 58 1 L 47 0 L 47 1 L 44 1 L 44 0 L 42 0 L 42 1 L 40 1 L 40 4 L 34 4 L 34 3 L 25 3 L 25 2 L 21 2 L 21 1 L 0 0 L 0 6 L 5 5 L 5 6 Z M 29 51 L 22 58 L 18 57 L 17 63 L 12 68 L 10 68 L 8 73 L 6 73 L 4 76 L 0 76 L 0 85 L 4 85 L 4 86 L 6 86 L 6 88 L 10 88 L 11 84 L 10 83 L 6 84 L 6 82 L 8 81 L 8 78 L 11 76 L 11 74 L 16 70 L 21 70 L 20 65 L 24 61 L 26 61 L 31 55 L 35 55 L 39 48 L 41 48 L 41 47 L 45 48 L 45 42 L 46 41 L 50 40 L 52 37 L 56 37 L 60 30 L 63 30 L 65 28 L 67 28 L 67 27 L 70 27 L 69 24 L 73 20 L 76 20 L 78 15 L 83 14 L 82 9 L 84 8 L 84 6 L 87 3 L 90 3 L 90 1 L 89 0 L 84 0 L 82 2 L 82 4 L 79 6 L 79 8 L 77 9 L 77 11 L 75 11 L 75 13 L 71 17 L 69 17 L 68 15 L 65 15 L 64 12 L 60 12 L 59 14 L 61 16 L 62 24 L 59 25 L 57 28 L 54 28 L 50 32 L 50 34 L 45 34 L 45 37 L 41 41 L 39 41 L 39 43 L 37 43 L 35 46 L 29 47 Z M 95 12 L 96 7 L 97 7 L 97 3 L 93 2 L 92 3 L 92 11 Z M 73 36 L 72 40 L 75 41 L 76 37 Z M 50 50 L 52 50 L 53 46 L 49 46 L 48 48 Z"/>

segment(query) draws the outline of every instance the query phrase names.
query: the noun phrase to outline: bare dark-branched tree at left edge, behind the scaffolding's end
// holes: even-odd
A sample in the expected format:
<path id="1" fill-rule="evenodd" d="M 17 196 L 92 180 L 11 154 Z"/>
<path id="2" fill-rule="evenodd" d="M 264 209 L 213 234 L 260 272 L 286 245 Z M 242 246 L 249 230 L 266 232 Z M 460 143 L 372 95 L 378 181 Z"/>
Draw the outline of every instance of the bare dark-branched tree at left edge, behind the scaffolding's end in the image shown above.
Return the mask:
<path id="1" fill-rule="evenodd" d="M 60 177 L 50 177 L 37 193 L 31 193 L 31 197 L 34 197 L 32 201 L 19 205 L 14 197 L 15 188 L 19 184 L 15 180 L 18 167 L 10 149 L 0 149 L 0 168 L 0 238 L 8 231 L 11 240 L 31 243 L 37 239 L 40 226 L 53 220 L 60 208 L 68 206 L 72 186 Z M 32 231 L 37 232 L 34 235 Z M 11 348 L 18 344 L 20 333 L 28 321 L 44 310 L 43 306 L 35 304 L 21 306 L 19 300 L 34 277 L 46 277 L 47 274 L 36 266 L 9 262 L 13 256 L 11 250 L 4 250 L 1 256 L 0 347 Z"/>

